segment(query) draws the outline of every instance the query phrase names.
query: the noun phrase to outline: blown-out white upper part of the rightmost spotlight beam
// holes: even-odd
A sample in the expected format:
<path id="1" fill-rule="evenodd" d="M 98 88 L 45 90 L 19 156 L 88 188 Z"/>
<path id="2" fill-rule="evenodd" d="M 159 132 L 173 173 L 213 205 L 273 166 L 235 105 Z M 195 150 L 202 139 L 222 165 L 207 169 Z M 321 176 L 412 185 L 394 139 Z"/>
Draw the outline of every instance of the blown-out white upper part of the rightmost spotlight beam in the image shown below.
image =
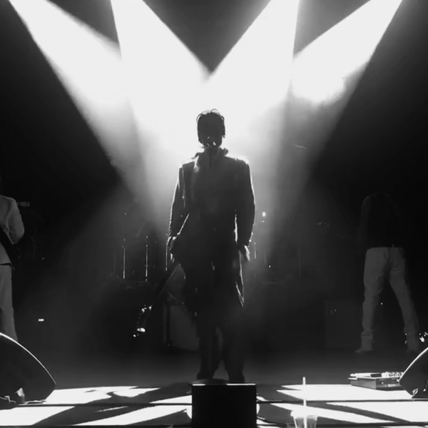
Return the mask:
<path id="1" fill-rule="evenodd" d="M 372 58 L 402 0 L 371 0 L 322 34 L 294 61 L 292 92 L 313 105 L 334 103 Z"/>

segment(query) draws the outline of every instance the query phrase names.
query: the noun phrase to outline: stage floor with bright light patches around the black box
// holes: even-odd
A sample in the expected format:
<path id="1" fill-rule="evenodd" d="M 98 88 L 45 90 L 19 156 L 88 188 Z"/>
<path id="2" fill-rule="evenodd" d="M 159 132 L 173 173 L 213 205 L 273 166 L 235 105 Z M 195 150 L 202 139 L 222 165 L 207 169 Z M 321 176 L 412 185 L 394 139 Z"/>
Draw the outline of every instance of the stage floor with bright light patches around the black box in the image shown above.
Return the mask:
<path id="1" fill-rule="evenodd" d="M 247 382 L 257 384 L 260 426 L 292 424 L 290 412 L 302 407 L 306 398 L 319 417 L 318 426 L 393 423 L 404 427 L 428 420 L 428 401 L 412 400 L 404 390 L 351 386 L 347 378 L 352 372 L 402 372 L 412 359 L 392 352 L 374 357 L 344 352 L 253 356 L 245 375 Z M 44 403 L 0 410 L 0 426 L 190 426 L 188 382 L 198 369 L 194 354 L 68 361 L 51 355 L 42 362 L 56 379 L 56 390 Z M 303 376 L 306 387 L 301 384 Z M 227 379 L 223 368 L 216 377 Z M 272 400 L 275 403 L 263 404 Z M 224 426 L 228 426 L 226 417 Z"/>

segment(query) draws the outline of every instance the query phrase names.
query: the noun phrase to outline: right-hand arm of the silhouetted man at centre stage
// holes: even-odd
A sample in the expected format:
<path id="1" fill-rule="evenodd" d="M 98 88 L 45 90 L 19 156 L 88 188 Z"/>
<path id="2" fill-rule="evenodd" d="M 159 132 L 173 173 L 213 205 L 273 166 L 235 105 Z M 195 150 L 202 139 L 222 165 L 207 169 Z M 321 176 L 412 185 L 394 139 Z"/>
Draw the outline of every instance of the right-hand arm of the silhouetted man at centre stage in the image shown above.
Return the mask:
<path id="1" fill-rule="evenodd" d="M 250 245 L 253 235 L 255 220 L 253 180 L 251 179 L 250 165 L 248 163 L 243 165 L 237 196 L 236 225 L 238 228 L 238 247 L 240 252 L 248 258 L 248 245 Z"/>

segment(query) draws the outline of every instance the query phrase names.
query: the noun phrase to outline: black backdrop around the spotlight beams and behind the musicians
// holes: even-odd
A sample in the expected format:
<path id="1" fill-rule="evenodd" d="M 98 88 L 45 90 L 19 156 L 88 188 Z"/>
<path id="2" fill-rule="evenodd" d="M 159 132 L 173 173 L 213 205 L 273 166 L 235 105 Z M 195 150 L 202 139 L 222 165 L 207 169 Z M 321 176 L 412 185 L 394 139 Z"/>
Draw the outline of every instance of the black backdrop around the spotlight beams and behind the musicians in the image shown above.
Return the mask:
<path id="1" fill-rule="evenodd" d="M 366 2 L 301 0 L 295 53 Z M 54 3 L 118 43 L 108 1 Z M 147 4 L 214 70 L 267 0 L 148 0 Z M 317 159 L 295 220 L 284 223 L 278 232 L 277 250 L 267 261 L 270 268 L 256 278 L 249 274 L 248 283 L 255 282 L 254 296 L 263 298 L 249 296 L 248 307 L 260 337 L 269 336 L 269 343 L 263 345 L 272 350 L 324 346 L 325 325 L 331 321 L 324 302 L 335 309 L 343 307 L 344 301 L 359 307 L 362 260 L 355 254 L 353 238 L 360 205 L 377 173 L 393 185 L 417 230 L 408 249 L 409 274 L 425 325 L 427 16 L 426 1 L 402 2 Z M 363 28 L 361 32 L 363 36 Z M 29 344 L 40 337 L 54 337 L 56 346 L 74 349 L 85 342 L 84 337 L 88 345 L 101 335 L 99 330 L 96 338 L 82 334 L 88 332 L 96 310 L 106 317 L 122 313 L 128 305 L 128 312 L 135 314 L 137 300 L 129 296 L 144 292 L 111 280 L 113 255 L 126 236 L 138 265 L 138 254 L 143 255 L 145 247 L 141 237 L 146 239 L 150 228 L 135 207 L 133 220 L 123 221 L 131 213 L 132 195 L 8 1 L 0 3 L 0 64 L 4 193 L 30 203 L 29 208 L 21 208 L 26 224 L 21 245 L 25 263 L 16 271 L 14 282 L 19 334 Z M 284 151 L 283 156 L 288 154 Z M 275 191 L 292 185 L 284 171 Z M 255 240 L 262 227 L 258 218 Z M 298 242 L 287 240 L 287 228 L 299 230 Z M 390 292 L 384 302 L 382 320 L 392 327 L 381 331 L 396 344 L 402 330 L 398 306 Z M 357 309 L 355 314 L 347 320 L 349 330 L 356 332 L 351 345 L 355 338 L 357 342 L 360 328 Z M 44 323 L 36 322 L 40 317 Z M 121 324 L 118 319 L 123 317 L 116 318 L 116 327 L 103 335 L 114 331 L 123 345 L 132 322 Z M 299 332 L 288 327 L 295 320 L 299 320 Z"/>

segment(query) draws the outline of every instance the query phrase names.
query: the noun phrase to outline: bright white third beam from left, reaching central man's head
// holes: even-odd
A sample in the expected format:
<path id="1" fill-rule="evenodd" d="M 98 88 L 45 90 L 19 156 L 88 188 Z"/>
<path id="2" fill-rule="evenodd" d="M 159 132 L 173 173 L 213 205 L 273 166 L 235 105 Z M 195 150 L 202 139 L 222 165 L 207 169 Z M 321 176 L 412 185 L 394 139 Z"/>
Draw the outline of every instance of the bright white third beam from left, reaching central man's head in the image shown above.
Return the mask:
<path id="1" fill-rule="evenodd" d="M 252 165 L 265 164 L 259 156 L 277 146 L 273 116 L 290 83 L 298 5 L 299 0 L 270 1 L 201 96 L 200 110 L 215 106 L 223 113 L 233 152 L 248 156 Z"/>

